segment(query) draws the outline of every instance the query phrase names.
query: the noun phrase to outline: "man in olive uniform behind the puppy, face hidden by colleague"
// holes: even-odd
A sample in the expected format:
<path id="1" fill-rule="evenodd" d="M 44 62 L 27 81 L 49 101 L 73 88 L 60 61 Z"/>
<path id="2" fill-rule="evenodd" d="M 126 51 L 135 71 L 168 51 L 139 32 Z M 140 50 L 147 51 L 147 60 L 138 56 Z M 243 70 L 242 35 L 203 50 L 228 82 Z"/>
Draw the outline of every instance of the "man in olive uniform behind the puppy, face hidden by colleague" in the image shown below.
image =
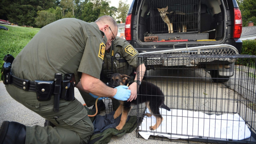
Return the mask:
<path id="1" fill-rule="evenodd" d="M 137 73 L 132 73 L 132 69 L 137 69 L 139 67 L 140 71 L 140 81 L 143 79 L 144 72 L 146 71 L 146 67 L 143 63 L 140 63 L 139 66 L 137 66 L 137 56 L 139 55 L 138 51 L 132 47 L 131 44 L 128 43 L 123 38 L 116 37 L 116 40 L 113 41 L 114 48 L 109 48 L 111 45 L 106 44 L 106 48 L 109 48 L 105 52 L 104 60 L 103 60 L 103 69 L 102 69 L 102 78 L 101 80 L 104 83 L 110 82 L 111 75 L 113 73 L 121 73 L 131 76 L 131 82 L 134 80 L 137 80 Z M 113 51 L 112 51 L 113 50 Z M 113 62 L 111 60 L 111 57 L 113 59 Z M 113 66 L 113 68 L 112 68 Z M 112 73 L 113 70 L 113 73 Z M 134 74 L 134 75 L 133 75 Z M 128 99 L 128 101 L 132 101 L 133 99 L 136 99 L 137 97 L 137 83 L 132 83 L 129 88 L 131 90 L 131 97 Z M 80 91 L 82 97 L 86 101 L 86 105 L 88 107 L 93 106 L 95 104 L 96 98 L 89 97 L 88 93 L 84 93 L 83 91 Z M 112 104 L 114 106 L 114 110 L 117 109 L 119 102 L 117 100 L 112 100 Z M 100 113 L 100 110 L 105 109 L 105 104 L 103 101 L 98 101 L 97 103 L 98 107 L 98 113 Z M 95 110 L 95 105 L 93 107 Z"/>

